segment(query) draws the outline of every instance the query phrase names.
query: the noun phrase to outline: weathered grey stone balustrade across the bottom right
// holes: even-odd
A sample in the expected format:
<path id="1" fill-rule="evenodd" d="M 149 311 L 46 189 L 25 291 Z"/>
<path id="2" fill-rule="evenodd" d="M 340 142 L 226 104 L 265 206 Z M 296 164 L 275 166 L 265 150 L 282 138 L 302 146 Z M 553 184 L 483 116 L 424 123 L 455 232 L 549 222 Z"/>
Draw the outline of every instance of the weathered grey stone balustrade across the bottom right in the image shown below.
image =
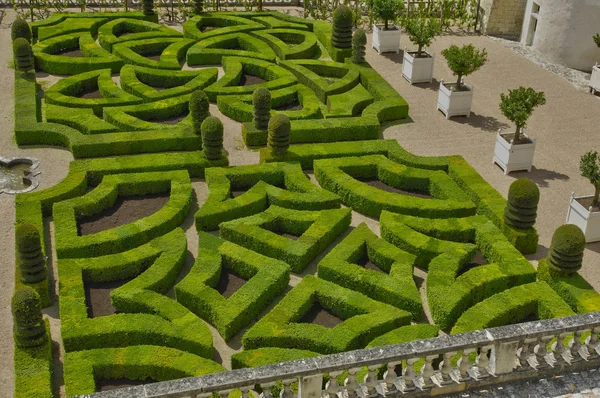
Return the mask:
<path id="1" fill-rule="evenodd" d="M 595 312 L 134 386 L 86 397 L 207 398 L 216 393 L 226 398 L 239 389 L 242 398 L 248 398 L 255 385 L 260 385 L 263 398 L 272 398 L 269 387 L 277 381 L 283 383 L 281 398 L 449 394 L 600 367 L 599 332 L 600 312 Z M 589 336 L 584 340 L 586 334 Z M 564 344 L 566 341 L 569 344 Z M 415 372 L 414 364 L 419 360 L 424 364 L 420 372 Z M 402 374 L 397 374 L 397 365 L 403 362 L 406 366 Z M 378 380 L 381 366 L 386 366 L 387 372 Z M 368 372 L 361 382 L 356 374 L 363 367 Z M 344 371 L 348 376 L 340 385 L 336 377 Z M 324 374 L 329 374 L 325 390 L 322 389 Z M 297 394 L 291 388 L 294 382 L 298 382 Z"/>

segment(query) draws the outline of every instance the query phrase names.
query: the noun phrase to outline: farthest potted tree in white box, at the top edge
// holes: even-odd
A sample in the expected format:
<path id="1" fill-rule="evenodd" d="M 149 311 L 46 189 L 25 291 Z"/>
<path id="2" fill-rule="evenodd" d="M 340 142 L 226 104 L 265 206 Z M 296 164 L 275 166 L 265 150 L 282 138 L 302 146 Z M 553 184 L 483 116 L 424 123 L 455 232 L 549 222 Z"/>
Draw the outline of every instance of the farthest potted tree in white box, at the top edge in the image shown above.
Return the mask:
<path id="1" fill-rule="evenodd" d="M 404 2 L 401 0 L 373 0 L 373 17 L 383 21 L 383 25 L 373 24 L 373 48 L 379 54 L 400 52 L 400 27 L 392 25 L 402 14 Z"/>

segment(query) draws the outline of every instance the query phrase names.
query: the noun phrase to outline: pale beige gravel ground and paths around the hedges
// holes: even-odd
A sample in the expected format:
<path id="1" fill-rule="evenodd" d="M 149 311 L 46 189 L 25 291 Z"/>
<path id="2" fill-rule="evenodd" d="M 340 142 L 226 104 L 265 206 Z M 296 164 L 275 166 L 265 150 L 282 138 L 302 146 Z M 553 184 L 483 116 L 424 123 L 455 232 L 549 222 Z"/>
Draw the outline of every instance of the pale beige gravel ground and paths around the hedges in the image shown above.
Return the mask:
<path id="1" fill-rule="evenodd" d="M 58 148 L 18 148 L 13 140 L 13 70 L 9 67 L 12 58 L 10 51 L 10 28 L 8 23 L 14 20 L 14 14 L 4 18 L 0 26 L 0 156 L 31 156 L 41 161 L 41 183 L 38 190 L 59 183 L 68 171 L 73 159 L 69 151 Z M 564 223 L 570 193 L 590 194 L 592 187 L 579 175 L 579 157 L 589 150 L 600 148 L 600 98 L 593 97 L 581 88 L 576 88 L 567 80 L 543 69 L 527 60 L 499 41 L 482 36 L 446 35 L 438 38 L 429 49 L 435 56 L 434 80 L 432 84 L 410 86 L 401 76 L 402 54 L 378 55 L 370 48 L 370 35 L 367 43 L 367 61 L 406 98 L 410 104 L 411 120 L 406 123 L 389 126 L 383 133 L 384 138 L 397 139 L 399 143 L 418 155 L 462 155 L 465 159 L 500 193 L 506 196 L 508 187 L 520 177 L 533 179 L 541 190 L 538 223 L 540 234 L 538 253 L 530 256 L 537 260 L 546 255 L 553 231 Z M 453 80 L 440 51 L 450 44 L 473 43 L 485 47 L 488 51 L 488 63 L 479 72 L 467 77 L 466 82 L 474 87 L 474 102 L 470 118 L 456 117 L 446 120 L 436 110 L 439 79 Z M 406 35 L 402 36 L 401 48 L 412 48 Z M 50 76 L 48 81 L 55 81 Z M 531 173 L 518 172 L 504 176 L 498 166 L 492 165 L 495 133 L 499 128 L 512 129 L 498 108 L 500 93 L 509 88 L 530 86 L 544 91 L 547 104 L 536 110 L 530 120 L 528 134 L 537 139 L 536 158 Z M 232 165 L 258 163 L 258 153 L 244 148 L 239 123 L 224 117 L 211 105 L 211 113 L 218 116 L 225 126 L 225 149 Z M 310 176 L 314 181 L 314 177 Z M 207 196 L 206 183 L 194 180 L 193 188 L 198 205 Z M 193 214 L 197 206 L 190 211 L 182 226 L 188 237 L 187 267 L 193 264 L 197 253 L 198 237 L 193 225 Z M 12 397 L 13 391 L 13 341 L 10 297 L 14 287 L 14 197 L 0 195 L 0 219 L 4 228 L 0 232 L 0 398 Z M 352 226 L 366 222 L 376 233 L 379 223 L 369 217 L 353 212 Z M 49 225 L 50 230 L 52 225 Z M 343 237 L 338 238 L 335 243 Z M 53 252 L 55 264 L 55 253 Z M 300 278 L 316 272 L 316 264 L 322 258 L 313 261 L 302 275 L 292 275 L 291 286 Z M 535 262 L 534 262 L 535 263 Z M 584 257 L 583 276 L 596 289 L 600 289 L 600 243 L 588 244 Z M 55 272 L 54 272 L 55 273 Z M 415 271 L 416 281 L 422 296 L 425 296 L 426 273 Z M 426 297 L 424 297 L 426 298 Z M 273 304 L 274 305 L 274 304 Z M 268 312 L 272 306 L 267 308 Z M 427 308 L 427 306 L 426 306 Z M 51 320 L 55 341 L 60 341 L 58 308 L 55 304 L 46 309 Z M 430 315 L 426 310 L 426 321 Z M 215 360 L 229 365 L 233 353 L 241 349 L 240 337 L 244 331 L 225 343 L 211 327 L 214 344 L 218 353 Z M 58 379 L 60 380 L 60 368 Z M 61 391 L 64 394 L 64 391 Z"/>

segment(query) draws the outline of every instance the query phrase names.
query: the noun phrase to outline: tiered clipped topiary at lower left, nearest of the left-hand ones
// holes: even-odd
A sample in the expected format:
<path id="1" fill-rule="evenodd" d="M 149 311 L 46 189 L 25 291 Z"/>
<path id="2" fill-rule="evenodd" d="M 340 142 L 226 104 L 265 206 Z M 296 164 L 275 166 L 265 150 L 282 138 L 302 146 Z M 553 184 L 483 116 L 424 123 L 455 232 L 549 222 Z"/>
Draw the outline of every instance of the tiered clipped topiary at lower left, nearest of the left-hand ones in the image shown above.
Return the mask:
<path id="1" fill-rule="evenodd" d="M 14 339 L 19 347 L 38 347 L 48 336 L 42 320 L 40 296 L 30 287 L 17 289 L 11 300 Z"/>

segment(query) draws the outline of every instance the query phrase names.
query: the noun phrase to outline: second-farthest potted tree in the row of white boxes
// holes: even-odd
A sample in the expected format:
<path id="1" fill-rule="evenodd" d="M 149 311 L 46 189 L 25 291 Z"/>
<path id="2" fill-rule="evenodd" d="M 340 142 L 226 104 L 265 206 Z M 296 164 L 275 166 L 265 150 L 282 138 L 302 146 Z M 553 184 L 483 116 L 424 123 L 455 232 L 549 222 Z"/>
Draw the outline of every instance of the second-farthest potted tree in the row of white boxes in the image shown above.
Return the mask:
<path id="1" fill-rule="evenodd" d="M 433 55 L 424 50 L 434 37 L 442 33 L 438 18 L 408 18 L 404 24 L 409 40 L 417 46 L 416 51 L 404 51 L 402 76 L 410 84 L 431 83 L 433 80 Z"/>

